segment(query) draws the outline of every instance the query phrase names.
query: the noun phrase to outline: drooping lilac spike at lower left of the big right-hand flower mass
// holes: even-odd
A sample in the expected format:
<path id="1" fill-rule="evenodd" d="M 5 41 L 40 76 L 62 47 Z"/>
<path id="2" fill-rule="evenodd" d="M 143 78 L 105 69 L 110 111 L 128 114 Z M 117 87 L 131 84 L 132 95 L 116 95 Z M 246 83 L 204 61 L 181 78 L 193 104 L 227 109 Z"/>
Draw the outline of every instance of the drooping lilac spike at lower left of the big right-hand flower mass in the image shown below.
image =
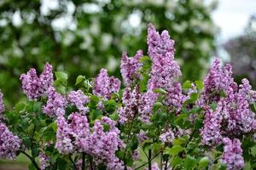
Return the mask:
<path id="1" fill-rule="evenodd" d="M 220 110 L 219 107 L 217 111 L 212 111 L 210 108 L 205 111 L 204 126 L 201 129 L 202 144 L 221 144 L 223 136 L 221 133 L 222 116 Z"/>

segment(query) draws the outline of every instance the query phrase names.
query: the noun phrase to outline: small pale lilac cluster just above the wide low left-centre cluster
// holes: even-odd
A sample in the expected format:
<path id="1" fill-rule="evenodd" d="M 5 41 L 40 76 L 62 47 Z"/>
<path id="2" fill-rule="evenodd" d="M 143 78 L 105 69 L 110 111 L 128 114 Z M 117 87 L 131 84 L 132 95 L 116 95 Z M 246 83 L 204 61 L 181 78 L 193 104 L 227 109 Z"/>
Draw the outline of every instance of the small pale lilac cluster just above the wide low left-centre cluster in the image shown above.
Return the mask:
<path id="1" fill-rule="evenodd" d="M 90 99 L 88 96 L 84 95 L 82 90 L 70 92 L 67 99 L 72 105 L 76 105 L 79 111 L 83 113 L 87 113 L 89 111 L 89 108 L 84 105 L 88 104 Z"/>

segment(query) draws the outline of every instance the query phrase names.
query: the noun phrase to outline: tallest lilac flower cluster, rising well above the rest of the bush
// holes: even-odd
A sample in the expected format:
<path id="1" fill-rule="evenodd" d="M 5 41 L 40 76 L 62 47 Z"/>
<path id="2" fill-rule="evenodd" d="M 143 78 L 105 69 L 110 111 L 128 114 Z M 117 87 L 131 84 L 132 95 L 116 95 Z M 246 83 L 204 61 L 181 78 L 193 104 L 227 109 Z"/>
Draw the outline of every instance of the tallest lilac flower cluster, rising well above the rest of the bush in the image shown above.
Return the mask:
<path id="1" fill-rule="evenodd" d="M 153 61 L 148 80 L 148 91 L 142 94 L 139 111 L 142 113 L 143 122 L 148 122 L 151 110 L 157 99 L 155 88 L 166 90 L 165 105 L 179 111 L 185 96 L 179 82 L 175 80 L 181 76 L 179 65 L 174 60 L 174 41 L 170 39 L 168 31 L 162 31 L 161 35 L 153 25 L 148 26 L 148 54 Z"/>

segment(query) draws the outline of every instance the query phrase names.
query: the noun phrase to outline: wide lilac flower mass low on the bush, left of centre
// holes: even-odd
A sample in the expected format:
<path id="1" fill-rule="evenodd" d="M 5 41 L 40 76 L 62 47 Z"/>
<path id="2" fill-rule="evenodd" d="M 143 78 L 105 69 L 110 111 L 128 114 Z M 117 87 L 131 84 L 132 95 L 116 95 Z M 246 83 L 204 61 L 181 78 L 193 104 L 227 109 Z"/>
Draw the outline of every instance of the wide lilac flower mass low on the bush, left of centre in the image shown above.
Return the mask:
<path id="1" fill-rule="evenodd" d="M 93 132 L 90 133 L 86 116 L 73 113 L 66 121 L 63 116 L 57 118 L 57 134 L 55 148 L 63 154 L 74 151 L 85 152 L 94 157 L 96 165 L 104 163 L 110 170 L 123 169 L 123 163 L 115 156 L 115 151 L 123 146 L 119 139 L 119 129 L 106 116 L 102 121 L 96 120 Z M 108 126 L 106 131 L 104 126 Z"/>

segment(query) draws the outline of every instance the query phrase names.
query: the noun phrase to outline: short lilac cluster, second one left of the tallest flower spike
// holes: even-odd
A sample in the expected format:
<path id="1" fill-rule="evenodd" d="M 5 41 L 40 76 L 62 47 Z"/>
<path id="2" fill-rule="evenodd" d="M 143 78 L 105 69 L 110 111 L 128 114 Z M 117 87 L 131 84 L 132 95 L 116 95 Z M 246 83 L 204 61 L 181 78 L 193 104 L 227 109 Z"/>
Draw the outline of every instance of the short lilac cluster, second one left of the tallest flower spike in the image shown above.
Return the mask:
<path id="1" fill-rule="evenodd" d="M 121 82 L 115 77 L 108 77 L 108 71 L 102 69 L 95 79 L 93 94 L 110 99 L 111 94 L 119 92 Z"/>

